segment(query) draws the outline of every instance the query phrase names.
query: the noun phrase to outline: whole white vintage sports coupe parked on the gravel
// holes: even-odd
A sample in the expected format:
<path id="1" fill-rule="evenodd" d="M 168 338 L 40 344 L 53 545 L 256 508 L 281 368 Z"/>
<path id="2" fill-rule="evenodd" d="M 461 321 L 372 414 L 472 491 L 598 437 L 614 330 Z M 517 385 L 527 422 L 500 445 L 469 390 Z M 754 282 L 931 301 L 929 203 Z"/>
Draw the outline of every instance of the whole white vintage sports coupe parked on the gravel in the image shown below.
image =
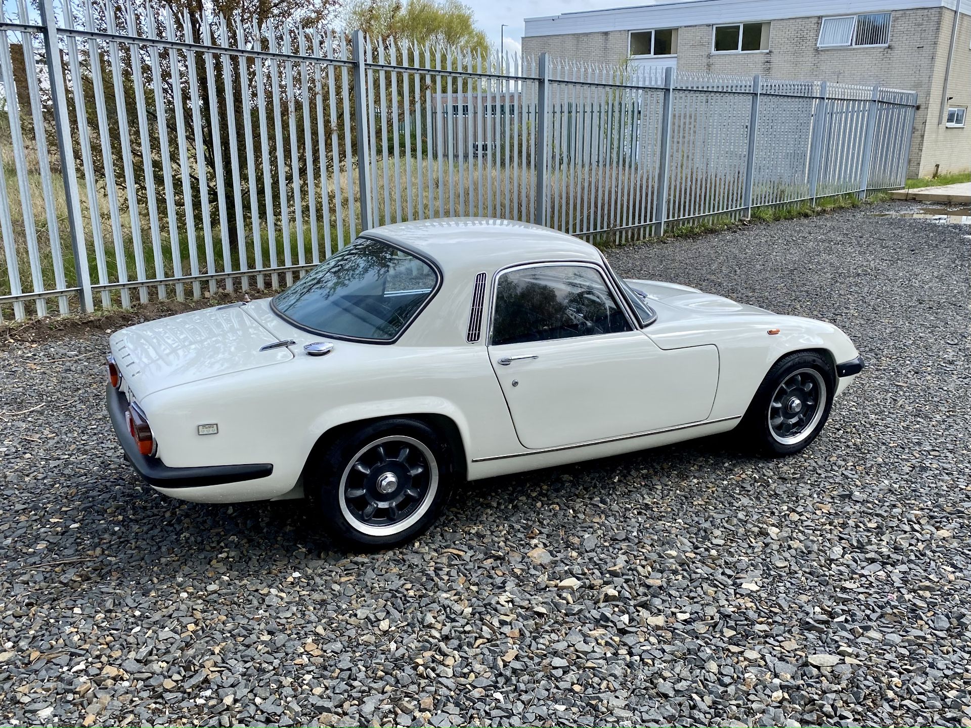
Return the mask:
<path id="1" fill-rule="evenodd" d="M 108 410 L 161 493 L 306 496 L 353 546 L 413 539 L 476 480 L 742 428 L 809 445 L 863 361 L 835 326 L 623 281 L 493 219 L 368 230 L 275 298 L 111 337 Z"/>

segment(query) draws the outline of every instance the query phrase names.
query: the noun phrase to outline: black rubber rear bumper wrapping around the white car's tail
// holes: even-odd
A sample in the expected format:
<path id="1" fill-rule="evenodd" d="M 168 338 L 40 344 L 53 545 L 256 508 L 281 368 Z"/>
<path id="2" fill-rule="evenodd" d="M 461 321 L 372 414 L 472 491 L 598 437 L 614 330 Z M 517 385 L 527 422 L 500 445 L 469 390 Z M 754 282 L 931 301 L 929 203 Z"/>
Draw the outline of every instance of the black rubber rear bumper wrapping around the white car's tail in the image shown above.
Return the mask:
<path id="1" fill-rule="evenodd" d="M 105 399 L 118 442 L 124 449 L 128 460 L 135 466 L 135 470 L 150 485 L 159 488 L 197 488 L 203 485 L 219 485 L 225 482 L 256 480 L 257 478 L 266 478 L 273 473 L 273 465 L 270 463 L 213 465 L 205 468 L 170 468 L 157 457 L 143 455 L 138 451 L 138 444 L 128 432 L 128 426 L 125 422 L 124 414 L 128 409 L 128 399 L 110 382 L 107 385 Z"/>

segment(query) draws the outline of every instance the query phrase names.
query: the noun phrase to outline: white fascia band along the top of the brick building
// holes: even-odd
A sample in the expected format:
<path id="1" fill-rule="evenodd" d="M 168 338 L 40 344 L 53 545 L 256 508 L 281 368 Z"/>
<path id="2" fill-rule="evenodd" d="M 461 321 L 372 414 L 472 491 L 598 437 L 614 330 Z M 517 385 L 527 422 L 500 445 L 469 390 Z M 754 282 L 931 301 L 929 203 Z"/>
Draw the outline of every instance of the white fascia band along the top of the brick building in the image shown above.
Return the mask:
<path id="1" fill-rule="evenodd" d="M 845 16 L 921 8 L 954 10 L 955 6 L 956 0 L 687 0 L 527 17 L 523 37 L 764 22 L 788 17 Z M 961 13 L 971 15 L 971 7 L 963 5 Z"/>

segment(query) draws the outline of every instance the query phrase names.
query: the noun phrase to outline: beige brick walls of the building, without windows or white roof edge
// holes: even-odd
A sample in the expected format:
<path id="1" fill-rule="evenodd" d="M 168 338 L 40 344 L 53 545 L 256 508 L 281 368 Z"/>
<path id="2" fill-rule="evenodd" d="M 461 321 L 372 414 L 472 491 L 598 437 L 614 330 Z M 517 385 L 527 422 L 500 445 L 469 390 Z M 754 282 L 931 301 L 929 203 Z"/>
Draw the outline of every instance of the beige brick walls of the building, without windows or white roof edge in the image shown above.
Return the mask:
<path id="1" fill-rule="evenodd" d="M 937 125 L 944 65 L 954 11 L 943 8 L 894 11 L 887 48 L 819 49 L 820 17 L 773 20 L 769 50 L 713 53 L 712 26 L 678 31 L 678 68 L 716 74 L 762 74 L 776 79 L 879 83 L 918 92 L 914 144 L 908 174 L 971 167 L 971 126 Z M 962 16 L 951 74 L 952 104 L 971 105 L 971 17 Z M 534 36 L 522 39 L 526 54 L 618 63 L 627 55 L 627 31 Z M 963 99 L 963 101 L 962 101 Z"/>

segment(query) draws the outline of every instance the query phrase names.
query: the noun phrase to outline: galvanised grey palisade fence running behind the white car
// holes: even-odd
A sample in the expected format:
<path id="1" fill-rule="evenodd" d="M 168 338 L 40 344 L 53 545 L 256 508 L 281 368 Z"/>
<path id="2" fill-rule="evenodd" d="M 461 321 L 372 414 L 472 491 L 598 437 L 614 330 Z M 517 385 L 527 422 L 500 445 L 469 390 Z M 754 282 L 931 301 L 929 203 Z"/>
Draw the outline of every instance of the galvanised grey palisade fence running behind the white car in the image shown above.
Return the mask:
<path id="1" fill-rule="evenodd" d="M 616 240 L 904 182 L 908 91 L 59 2 L 0 3 L 0 320 L 285 285 L 386 222 Z"/>

